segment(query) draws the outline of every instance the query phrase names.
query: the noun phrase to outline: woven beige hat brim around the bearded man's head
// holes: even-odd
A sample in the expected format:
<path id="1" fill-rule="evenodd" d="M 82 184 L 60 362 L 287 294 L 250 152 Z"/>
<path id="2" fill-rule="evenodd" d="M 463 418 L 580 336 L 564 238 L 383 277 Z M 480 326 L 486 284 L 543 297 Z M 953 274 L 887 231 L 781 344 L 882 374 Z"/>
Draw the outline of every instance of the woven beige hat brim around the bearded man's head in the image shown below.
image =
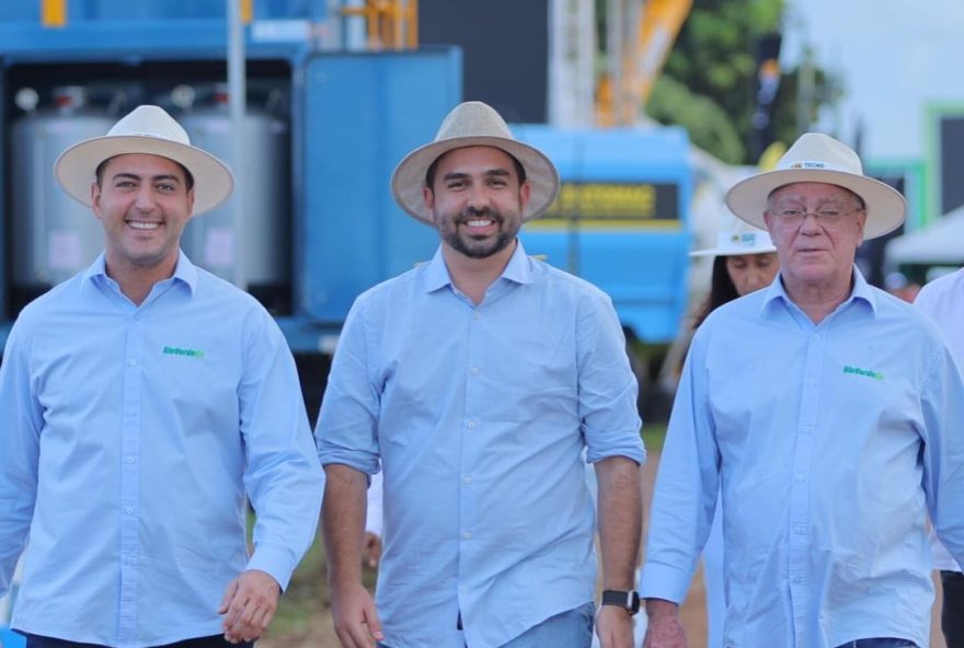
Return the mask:
<path id="1" fill-rule="evenodd" d="M 530 221 L 542 216 L 559 194 L 559 172 L 542 151 L 527 143 L 502 137 L 454 137 L 420 147 L 399 162 L 392 173 L 392 196 L 399 207 L 413 218 L 433 224 L 426 209 L 422 189 L 425 174 L 439 157 L 466 147 L 494 147 L 502 149 L 519 161 L 526 170 L 529 182 L 529 202 L 523 212 L 523 220 Z"/>

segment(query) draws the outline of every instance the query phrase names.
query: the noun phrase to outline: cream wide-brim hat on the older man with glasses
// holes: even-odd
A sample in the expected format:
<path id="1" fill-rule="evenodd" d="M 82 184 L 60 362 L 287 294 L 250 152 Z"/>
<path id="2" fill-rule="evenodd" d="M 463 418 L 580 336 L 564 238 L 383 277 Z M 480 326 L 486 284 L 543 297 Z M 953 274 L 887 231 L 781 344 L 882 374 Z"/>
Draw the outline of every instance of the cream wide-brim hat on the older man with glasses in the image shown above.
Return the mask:
<path id="1" fill-rule="evenodd" d="M 860 196 L 867 208 L 864 239 L 896 230 L 907 213 L 907 201 L 899 192 L 863 175 L 857 153 L 822 132 L 802 135 L 773 171 L 736 183 L 726 194 L 726 206 L 751 225 L 766 228 L 764 211 L 770 194 L 784 185 L 802 182 L 828 183 Z"/>

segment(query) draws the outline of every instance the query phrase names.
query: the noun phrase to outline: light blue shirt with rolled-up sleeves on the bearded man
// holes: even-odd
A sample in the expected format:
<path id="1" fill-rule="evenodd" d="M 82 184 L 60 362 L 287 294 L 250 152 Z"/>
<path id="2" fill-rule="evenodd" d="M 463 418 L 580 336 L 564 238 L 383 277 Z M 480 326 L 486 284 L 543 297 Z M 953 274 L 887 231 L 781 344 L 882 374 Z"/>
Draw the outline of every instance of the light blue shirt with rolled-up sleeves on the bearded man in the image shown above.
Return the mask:
<path id="1" fill-rule="evenodd" d="M 592 601 L 582 451 L 644 459 L 611 301 L 521 243 L 478 306 L 440 250 L 360 296 L 318 437 L 323 464 L 383 466 L 376 603 L 392 648 L 501 646 Z"/>

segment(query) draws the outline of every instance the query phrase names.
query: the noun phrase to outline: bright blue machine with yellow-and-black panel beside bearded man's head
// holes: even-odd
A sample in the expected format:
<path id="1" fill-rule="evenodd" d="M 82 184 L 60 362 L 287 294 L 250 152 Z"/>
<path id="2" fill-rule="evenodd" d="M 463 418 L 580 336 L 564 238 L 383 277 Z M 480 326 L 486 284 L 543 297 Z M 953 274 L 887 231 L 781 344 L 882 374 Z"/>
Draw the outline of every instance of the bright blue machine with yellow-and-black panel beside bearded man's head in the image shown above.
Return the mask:
<path id="1" fill-rule="evenodd" d="M 599 286 L 629 337 L 673 340 L 687 304 L 692 169 L 681 128 L 516 127 L 562 180 L 559 199 L 524 229 L 530 254 Z"/>

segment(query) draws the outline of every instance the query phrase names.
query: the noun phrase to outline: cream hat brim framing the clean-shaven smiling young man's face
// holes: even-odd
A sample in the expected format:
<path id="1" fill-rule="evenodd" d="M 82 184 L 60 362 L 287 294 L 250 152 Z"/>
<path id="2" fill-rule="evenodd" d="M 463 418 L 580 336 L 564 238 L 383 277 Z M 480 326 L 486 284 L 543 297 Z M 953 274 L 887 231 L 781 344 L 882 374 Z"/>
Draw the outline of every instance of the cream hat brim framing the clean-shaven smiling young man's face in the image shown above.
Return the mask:
<path id="1" fill-rule="evenodd" d="M 196 147 L 147 135 L 95 137 L 64 151 L 54 173 L 70 197 L 90 207 L 91 184 L 104 160 L 128 153 L 160 155 L 183 165 L 194 176 L 194 215 L 210 211 L 231 196 L 234 177 L 228 166 Z"/>

